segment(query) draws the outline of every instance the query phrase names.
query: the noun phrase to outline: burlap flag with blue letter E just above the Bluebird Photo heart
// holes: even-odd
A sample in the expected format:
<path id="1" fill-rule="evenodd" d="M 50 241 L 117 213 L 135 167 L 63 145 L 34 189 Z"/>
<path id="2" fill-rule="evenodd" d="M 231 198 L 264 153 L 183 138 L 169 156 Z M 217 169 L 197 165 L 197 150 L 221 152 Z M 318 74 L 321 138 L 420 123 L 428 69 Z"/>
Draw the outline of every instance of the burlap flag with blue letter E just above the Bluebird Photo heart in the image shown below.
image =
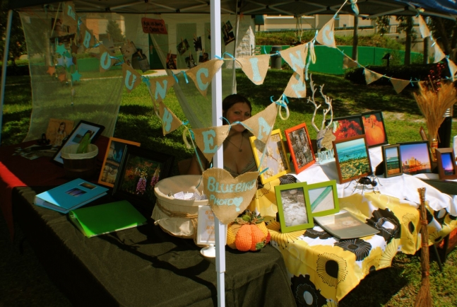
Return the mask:
<path id="1" fill-rule="evenodd" d="M 228 124 L 218 127 L 192 129 L 195 143 L 201 152 L 203 152 L 206 160 L 211 161 L 220 145 L 222 145 L 228 136 L 229 129 L 230 126 Z"/>

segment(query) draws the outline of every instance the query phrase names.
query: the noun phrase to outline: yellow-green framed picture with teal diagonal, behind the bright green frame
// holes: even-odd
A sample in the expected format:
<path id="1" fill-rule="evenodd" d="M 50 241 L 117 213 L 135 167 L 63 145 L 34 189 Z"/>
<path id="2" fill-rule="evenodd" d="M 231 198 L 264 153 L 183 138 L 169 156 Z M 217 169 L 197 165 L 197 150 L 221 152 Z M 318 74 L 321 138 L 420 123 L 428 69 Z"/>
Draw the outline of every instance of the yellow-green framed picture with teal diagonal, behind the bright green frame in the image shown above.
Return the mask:
<path id="1" fill-rule="evenodd" d="M 312 216 L 326 216 L 340 211 L 336 180 L 307 185 L 305 192 L 305 202 L 311 206 Z"/>

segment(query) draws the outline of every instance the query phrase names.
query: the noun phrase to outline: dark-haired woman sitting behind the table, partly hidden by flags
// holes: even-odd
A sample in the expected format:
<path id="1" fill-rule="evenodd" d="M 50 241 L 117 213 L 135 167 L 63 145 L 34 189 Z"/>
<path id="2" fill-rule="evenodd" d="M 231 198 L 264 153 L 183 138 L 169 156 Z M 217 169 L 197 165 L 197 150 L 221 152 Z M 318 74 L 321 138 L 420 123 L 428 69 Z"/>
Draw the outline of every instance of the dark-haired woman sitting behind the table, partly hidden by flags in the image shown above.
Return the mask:
<path id="1" fill-rule="evenodd" d="M 242 122 L 251 117 L 251 103 L 247 98 L 239 94 L 232 94 L 222 100 L 222 116 L 232 124 L 232 122 Z M 227 124 L 224 120 L 224 124 Z M 249 137 L 251 132 L 242 124 L 234 124 L 230 128 L 228 137 L 224 141 L 224 169 L 235 178 L 247 172 L 257 170 L 256 160 L 252 153 Z M 204 169 L 209 168 L 210 163 L 206 158 L 198 153 Z M 191 165 L 187 172 L 189 175 L 201 175 L 200 165 L 196 155 L 192 157 Z"/>

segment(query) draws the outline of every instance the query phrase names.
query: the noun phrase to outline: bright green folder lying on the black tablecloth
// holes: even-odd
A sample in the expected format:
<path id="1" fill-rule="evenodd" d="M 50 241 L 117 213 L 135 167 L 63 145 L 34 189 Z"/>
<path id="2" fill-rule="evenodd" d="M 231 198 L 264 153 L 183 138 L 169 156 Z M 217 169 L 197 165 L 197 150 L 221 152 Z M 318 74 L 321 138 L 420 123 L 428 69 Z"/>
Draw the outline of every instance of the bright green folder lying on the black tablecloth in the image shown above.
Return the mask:
<path id="1" fill-rule="evenodd" d="M 126 200 L 71 210 L 69 216 L 88 238 L 146 224 L 146 218 Z"/>

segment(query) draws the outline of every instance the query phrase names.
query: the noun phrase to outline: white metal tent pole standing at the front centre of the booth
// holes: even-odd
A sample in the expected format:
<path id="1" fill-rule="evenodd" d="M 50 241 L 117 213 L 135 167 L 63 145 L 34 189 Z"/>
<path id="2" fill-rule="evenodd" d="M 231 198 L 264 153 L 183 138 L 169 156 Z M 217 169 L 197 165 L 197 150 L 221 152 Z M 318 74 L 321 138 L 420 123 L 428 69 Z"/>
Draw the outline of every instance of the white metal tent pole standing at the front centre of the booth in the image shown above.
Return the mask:
<path id="1" fill-rule="evenodd" d="M 211 0 L 211 53 L 222 56 L 220 47 L 220 0 Z M 212 120 L 213 127 L 222 125 L 222 69 L 213 76 L 211 81 Z M 213 157 L 215 168 L 224 168 L 224 157 L 222 147 L 218 149 Z M 225 306 L 225 226 L 215 216 L 215 250 L 216 250 L 216 274 L 218 286 L 218 306 Z"/>

